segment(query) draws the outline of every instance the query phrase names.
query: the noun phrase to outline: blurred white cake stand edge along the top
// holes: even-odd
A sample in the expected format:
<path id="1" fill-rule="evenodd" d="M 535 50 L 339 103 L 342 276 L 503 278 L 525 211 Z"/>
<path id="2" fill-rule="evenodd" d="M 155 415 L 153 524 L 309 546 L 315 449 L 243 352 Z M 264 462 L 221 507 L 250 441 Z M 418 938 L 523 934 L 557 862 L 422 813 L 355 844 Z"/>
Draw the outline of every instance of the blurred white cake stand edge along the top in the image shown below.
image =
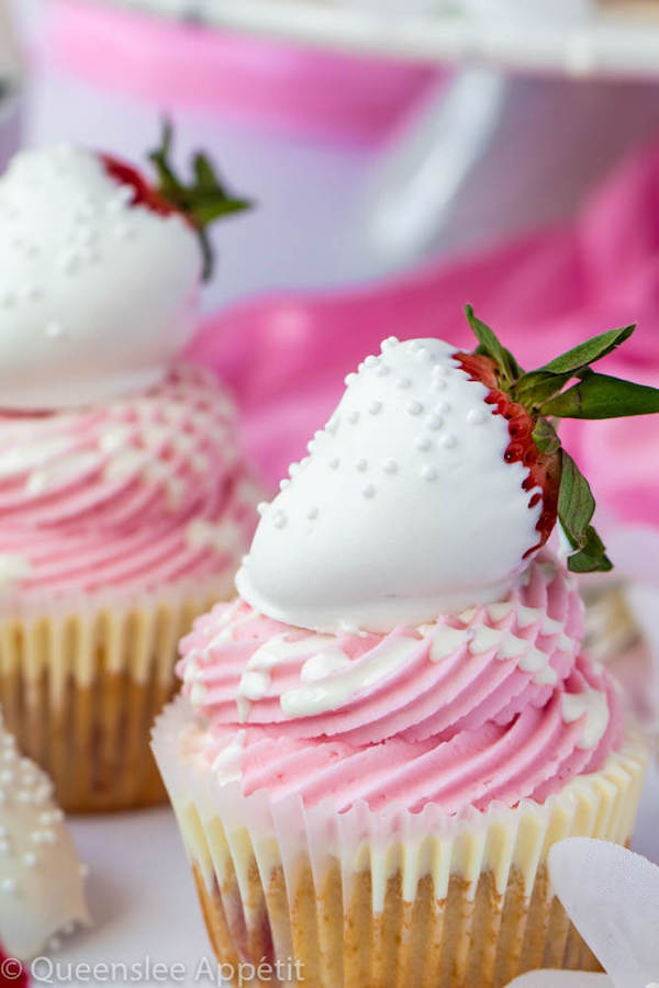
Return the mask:
<path id="1" fill-rule="evenodd" d="M 405 59 L 659 76 L 650 0 L 111 0 L 124 7 Z"/>

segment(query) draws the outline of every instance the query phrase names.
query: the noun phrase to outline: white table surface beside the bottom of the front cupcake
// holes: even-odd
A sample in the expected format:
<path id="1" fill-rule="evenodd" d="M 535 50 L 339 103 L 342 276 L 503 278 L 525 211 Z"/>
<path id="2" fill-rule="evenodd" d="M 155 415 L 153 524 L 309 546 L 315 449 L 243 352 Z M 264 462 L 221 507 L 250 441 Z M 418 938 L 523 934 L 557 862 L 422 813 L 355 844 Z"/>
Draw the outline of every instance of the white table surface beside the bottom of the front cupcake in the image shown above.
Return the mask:
<path id="1" fill-rule="evenodd" d="M 82 858 L 90 865 L 89 898 L 94 928 L 64 942 L 52 956 L 58 966 L 46 984 L 81 986 L 76 965 L 159 963 L 175 978 L 159 984 L 212 985 L 215 966 L 203 930 L 192 878 L 169 809 L 75 820 Z M 659 765 L 650 770 L 636 830 L 635 850 L 659 862 Z M 40 968 L 41 975 L 48 968 Z M 182 974 L 185 972 L 185 976 Z M 110 981 L 112 983 L 112 981 Z M 158 984 L 157 975 L 143 984 Z M 35 984 L 40 984 L 35 980 Z M 43 977 L 41 984 L 44 984 Z M 112 984 L 126 984 L 121 977 Z"/>

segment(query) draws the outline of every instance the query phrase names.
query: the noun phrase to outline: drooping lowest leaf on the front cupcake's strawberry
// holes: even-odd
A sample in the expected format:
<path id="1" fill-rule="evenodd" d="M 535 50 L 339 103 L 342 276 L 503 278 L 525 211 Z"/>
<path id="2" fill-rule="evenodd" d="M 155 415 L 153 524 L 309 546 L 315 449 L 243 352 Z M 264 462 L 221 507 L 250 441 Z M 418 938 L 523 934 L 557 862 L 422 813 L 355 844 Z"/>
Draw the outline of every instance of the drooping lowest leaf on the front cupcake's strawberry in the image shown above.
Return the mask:
<path id="1" fill-rule="evenodd" d="M 568 568 L 573 573 L 611 570 L 613 564 L 606 555 L 604 543 L 590 524 L 595 512 L 590 484 L 565 449 L 561 449 L 560 458 L 558 519 L 574 550 L 568 558 Z"/>

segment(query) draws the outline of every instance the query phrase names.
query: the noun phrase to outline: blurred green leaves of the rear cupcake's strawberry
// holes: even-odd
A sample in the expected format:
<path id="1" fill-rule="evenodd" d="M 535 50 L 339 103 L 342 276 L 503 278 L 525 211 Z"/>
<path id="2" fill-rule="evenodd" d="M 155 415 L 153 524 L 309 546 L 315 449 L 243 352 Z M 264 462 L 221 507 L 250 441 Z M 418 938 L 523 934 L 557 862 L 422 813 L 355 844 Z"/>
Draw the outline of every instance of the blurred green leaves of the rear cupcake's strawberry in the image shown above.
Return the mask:
<path id="1" fill-rule="evenodd" d="M 163 138 L 159 147 L 150 151 L 149 159 L 158 175 L 158 192 L 163 199 L 182 213 L 194 227 L 203 255 L 203 280 L 208 281 L 213 272 L 213 251 L 208 236 L 208 227 L 221 216 L 239 213 L 250 207 L 247 199 L 233 195 L 220 181 L 205 155 L 197 154 L 192 161 L 194 181 L 182 182 L 170 164 L 174 130 L 169 121 L 165 121 Z"/>

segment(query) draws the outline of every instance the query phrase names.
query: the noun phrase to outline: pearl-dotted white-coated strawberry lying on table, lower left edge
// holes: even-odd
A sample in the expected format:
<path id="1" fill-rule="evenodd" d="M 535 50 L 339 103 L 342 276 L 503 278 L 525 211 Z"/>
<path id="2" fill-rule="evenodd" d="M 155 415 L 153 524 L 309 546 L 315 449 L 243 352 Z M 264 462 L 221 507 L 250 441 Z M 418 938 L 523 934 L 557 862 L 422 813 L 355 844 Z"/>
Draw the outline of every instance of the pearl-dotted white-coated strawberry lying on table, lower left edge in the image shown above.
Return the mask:
<path id="1" fill-rule="evenodd" d="M 0 942 L 29 961 L 89 924 L 81 865 L 46 775 L 22 759 L 0 716 Z"/>

